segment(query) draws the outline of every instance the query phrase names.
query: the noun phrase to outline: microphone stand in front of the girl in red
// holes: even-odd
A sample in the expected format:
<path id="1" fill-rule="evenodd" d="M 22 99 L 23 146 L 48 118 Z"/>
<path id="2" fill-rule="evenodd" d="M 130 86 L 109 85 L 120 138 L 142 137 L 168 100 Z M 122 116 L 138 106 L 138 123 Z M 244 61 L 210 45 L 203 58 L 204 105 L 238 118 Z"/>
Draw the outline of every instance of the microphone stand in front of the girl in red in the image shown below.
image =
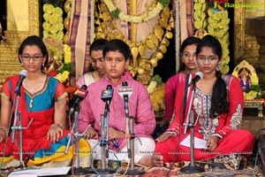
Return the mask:
<path id="1" fill-rule="evenodd" d="M 195 92 L 195 83 L 193 83 L 193 91 L 192 91 L 192 96 L 191 96 L 191 100 L 189 104 L 188 114 L 186 117 L 186 123 L 184 123 L 184 126 L 185 126 L 184 134 L 186 134 L 187 127 L 190 127 L 190 130 L 191 130 L 191 135 L 190 135 L 191 163 L 187 165 L 186 167 L 183 167 L 180 169 L 180 172 L 183 172 L 183 173 L 202 173 L 205 171 L 201 167 L 196 166 L 194 164 L 194 127 L 195 127 L 195 124 L 194 124 L 193 111 L 191 111 L 191 107 L 192 107 L 191 105 L 193 103 L 194 92 Z M 190 123 L 189 123 L 189 119 L 191 120 Z"/>

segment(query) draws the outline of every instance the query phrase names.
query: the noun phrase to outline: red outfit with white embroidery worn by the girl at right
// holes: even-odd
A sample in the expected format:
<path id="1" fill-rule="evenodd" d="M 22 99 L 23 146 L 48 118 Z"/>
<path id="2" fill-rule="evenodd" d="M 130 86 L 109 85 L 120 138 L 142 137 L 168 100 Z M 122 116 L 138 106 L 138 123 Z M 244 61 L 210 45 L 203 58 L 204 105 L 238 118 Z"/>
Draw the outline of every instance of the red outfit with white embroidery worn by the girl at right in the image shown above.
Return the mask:
<path id="1" fill-rule="evenodd" d="M 215 119 L 209 118 L 211 105 L 211 94 L 204 94 L 200 89 L 195 88 L 193 96 L 192 111 L 194 120 L 197 117 L 198 122 L 194 127 L 196 137 L 207 140 L 210 135 L 221 137 L 215 151 L 206 151 L 203 149 L 194 150 L 194 158 L 198 160 L 207 160 L 223 155 L 231 156 L 233 154 L 242 154 L 245 157 L 252 154 L 254 146 L 254 135 L 249 131 L 239 129 L 242 119 L 244 99 L 239 80 L 231 75 L 225 75 L 223 80 L 226 82 L 228 91 L 228 100 L 230 103 L 229 112 L 218 115 Z M 184 135 L 183 122 L 185 122 L 189 101 L 191 100 L 192 87 L 188 91 L 186 113 L 183 116 L 183 100 L 185 97 L 185 81 L 179 84 L 176 101 L 175 101 L 175 119 L 170 124 L 168 132 L 175 132 L 176 137 L 171 137 L 164 142 L 157 142 L 155 151 L 163 156 L 164 162 L 172 162 L 177 155 L 177 161 L 189 161 L 190 148 L 179 145 L 186 135 L 190 135 L 188 128 L 187 134 Z M 198 116 L 199 115 L 199 116 Z"/>

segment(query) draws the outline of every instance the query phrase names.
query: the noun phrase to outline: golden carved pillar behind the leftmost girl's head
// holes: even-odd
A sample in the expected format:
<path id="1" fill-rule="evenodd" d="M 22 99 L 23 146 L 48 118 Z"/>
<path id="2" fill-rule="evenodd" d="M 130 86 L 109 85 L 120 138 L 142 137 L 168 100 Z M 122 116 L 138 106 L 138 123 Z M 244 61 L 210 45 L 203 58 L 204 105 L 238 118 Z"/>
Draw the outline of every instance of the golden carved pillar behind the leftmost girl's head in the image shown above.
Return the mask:
<path id="1" fill-rule="evenodd" d="M 0 43 L 0 87 L 6 77 L 19 74 L 18 49 L 28 35 L 40 35 L 40 4 L 36 0 L 7 1 L 7 30 L 4 35 L 8 42 Z"/>

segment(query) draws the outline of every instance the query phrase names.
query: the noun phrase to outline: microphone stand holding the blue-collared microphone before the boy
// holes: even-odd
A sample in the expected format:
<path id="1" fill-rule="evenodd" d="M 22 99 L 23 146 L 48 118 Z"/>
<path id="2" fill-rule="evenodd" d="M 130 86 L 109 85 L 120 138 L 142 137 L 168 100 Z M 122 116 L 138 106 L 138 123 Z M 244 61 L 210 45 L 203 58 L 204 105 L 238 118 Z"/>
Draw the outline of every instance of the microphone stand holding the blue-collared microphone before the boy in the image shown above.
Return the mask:
<path id="1" fill-rule="evenodd" d="M 101 115 L 101 153 L 102 153 L 102 168 L 96 169 L 96 172 L 101 174 L 116 173 L 112 168 L 106 167 L 106 158 L 109 158 L 109 124 L 110 124 L 110 101 L 106 100 L 104 114 Z"/>

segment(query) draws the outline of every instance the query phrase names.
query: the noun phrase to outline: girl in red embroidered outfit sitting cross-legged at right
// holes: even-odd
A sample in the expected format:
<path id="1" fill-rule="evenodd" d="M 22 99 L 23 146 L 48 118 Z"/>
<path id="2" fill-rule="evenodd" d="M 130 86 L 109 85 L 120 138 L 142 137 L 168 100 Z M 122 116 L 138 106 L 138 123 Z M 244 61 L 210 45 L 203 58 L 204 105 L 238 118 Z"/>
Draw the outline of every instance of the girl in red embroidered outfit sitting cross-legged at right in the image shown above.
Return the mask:
<path id="1" fill-rule="evenodd" d="M 222 47 L 215 37 L 205 36 L 199 42 L 196 54 L 203 78 L 188 88 L 187 92 L 185 81 L 180 83 L 175 102 L 175 119 L 167 131 L 157 138 L 155 151 L 163 156 L 164 162 L 172 162 L 175 158 L 178 162 L 190 160 L 190 147 L 180 142 L 190 135 L 189 128 L 186 135 L 183 134 L 183 123 L 195 87 L 191 108 L 196 122 L 194 135 L 205 140 L 206 146 L 204 149 L 194 149 L 194 159 L 212 159 L 238 169 L 242 156 L 252 154 L 254 146 L 254 135 L 240 129 L 244 103 L 239 80 L 221 74 L 219 65 Z M 183 104 L 185 96 L 187 103 Z"/>

